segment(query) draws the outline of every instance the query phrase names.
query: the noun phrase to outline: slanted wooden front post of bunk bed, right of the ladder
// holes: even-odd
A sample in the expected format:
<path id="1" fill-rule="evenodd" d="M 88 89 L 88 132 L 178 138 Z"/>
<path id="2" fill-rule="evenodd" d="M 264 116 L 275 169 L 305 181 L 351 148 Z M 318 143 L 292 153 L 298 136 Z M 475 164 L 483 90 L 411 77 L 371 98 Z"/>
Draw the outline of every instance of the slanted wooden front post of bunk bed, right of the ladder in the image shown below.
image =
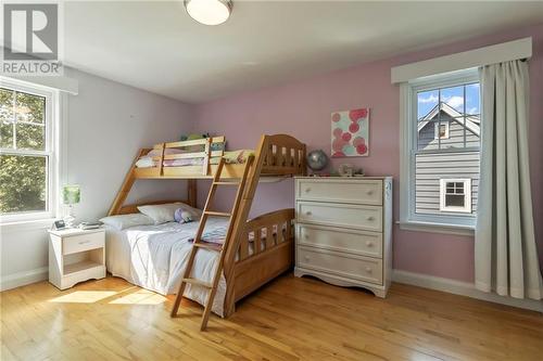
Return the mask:
<path id="1" fill-rule="evenodd" d="M 245 231 L 247 220 L 249 218 L 249 212 L 251 210 L 251 205 L 253 203 L 254 193 L 256 191 L 256 186 L 258 185 L 258 179 L 262 170 L 262 166 L 264 164 L 264 158 L 267 153 L 268 141 L 266 136 L 261 137 L 261 141 L 258 142 L 258 147 L 255 152 L 255 159 L 253 166 L 249 172 L 249 180 L 245 184 L 245 190 L 243 192 L 243 196 L 240 203 L 240 209 L 238 211 L 238 217 L 235 220 L 233 227 L 233 242 L 229 244 L 229 248 L 227 249 L 225 257 L 225 278 L 226 278 L 226 297 L 224 305 L 224 313 L 225 317 L 229 317 L 233 313 L 236 307 L 236 295 L 233 292 L 233 271 L 236 265 L 236 252 L 239 247 L 239 242 L 241 240 L 241 235 Z"/>

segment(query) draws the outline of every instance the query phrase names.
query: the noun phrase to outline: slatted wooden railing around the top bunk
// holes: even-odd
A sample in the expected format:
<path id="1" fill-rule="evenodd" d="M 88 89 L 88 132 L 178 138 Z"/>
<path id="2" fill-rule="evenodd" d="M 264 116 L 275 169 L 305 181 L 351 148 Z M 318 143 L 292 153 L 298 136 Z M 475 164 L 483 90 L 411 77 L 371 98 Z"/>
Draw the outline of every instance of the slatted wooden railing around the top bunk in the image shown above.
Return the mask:
<path id="1" fill-rule="evenodd" d="M 262 136 L 262 176 L 304 176 L 305 144 L 287 134 Z M 134 168 L 136 178 L 211 178 L 220 157 L 225 155 L 225 137 L 160 143 L 142 150 L 138 159 L 147 159 L 144 166 Z M 258 151 L 258 150 L 257 150 Z M 138 164 L 138 163 L 137 163 Z M 227 164 L 224 178 L 239 178 L 242 164 Z"/>

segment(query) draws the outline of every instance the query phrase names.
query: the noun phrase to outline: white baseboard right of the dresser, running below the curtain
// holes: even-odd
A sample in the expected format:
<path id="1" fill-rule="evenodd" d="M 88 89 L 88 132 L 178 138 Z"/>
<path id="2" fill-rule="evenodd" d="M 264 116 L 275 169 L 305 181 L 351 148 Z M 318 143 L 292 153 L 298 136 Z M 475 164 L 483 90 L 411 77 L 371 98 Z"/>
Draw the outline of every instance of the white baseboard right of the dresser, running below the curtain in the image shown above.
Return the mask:
<path id="1" fill-rule="evenodd" d="M 421 273 L 413 273 L 401 270 L 392 271 L 392 281 L 397 283 L 409 284 L 413 286 L 419 286 L 424 288 L 430 288 L 435 291 L 447 292 L 455 295 L 467 296 L 471 298 L 477 298 L 485 300 L 489 302 L 495 302 L 501 305 L 507 305 L 512 307 L 518 307 L 527 310 L 538 311 L 543 313 L 543 301 L 538 301 L 533 299 L 517 299 L 513 297 L 504 297 L 497 294 L 485 293 L 479 291 L 475 287 L 472 283 L 455 281 L 450 279 L 437 278 L 433 275 L 427 275 Z"/>

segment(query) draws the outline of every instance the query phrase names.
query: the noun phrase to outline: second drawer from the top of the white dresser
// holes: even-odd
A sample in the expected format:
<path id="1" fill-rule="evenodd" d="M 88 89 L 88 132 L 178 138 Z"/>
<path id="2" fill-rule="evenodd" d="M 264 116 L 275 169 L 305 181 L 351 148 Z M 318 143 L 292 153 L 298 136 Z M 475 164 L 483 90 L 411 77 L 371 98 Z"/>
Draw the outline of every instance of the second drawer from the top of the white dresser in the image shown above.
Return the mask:
<path id="1" fill-rule="evenodd" d="M 296 221 L 382 231 L 382 207 L 299 201 Z"/>

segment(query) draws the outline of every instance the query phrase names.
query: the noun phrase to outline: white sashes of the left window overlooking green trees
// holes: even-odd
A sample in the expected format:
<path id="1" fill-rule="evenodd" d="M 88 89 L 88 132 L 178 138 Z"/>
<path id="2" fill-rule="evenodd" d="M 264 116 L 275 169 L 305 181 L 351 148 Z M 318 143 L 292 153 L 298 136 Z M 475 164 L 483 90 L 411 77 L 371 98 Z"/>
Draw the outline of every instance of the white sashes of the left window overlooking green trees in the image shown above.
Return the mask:
<path id="1" fill-rule="evenodd" d="M 24 81 L 0 77 L 0 85 L 2 88 L 14 90 L 15 92 L 28 93 L 46 99 L 45 119 L 41 124 L 46 127 L 45 132 L 45 150 L 18 150 L 0 147 L 2 155 L 21 155 L 21 156 L 43 156 L 46 157 L 46 210 L 24 211 L 24 212 L 9 212 L 0 214 L 0 223 L 20 222 L 27 220 L 39 220 L 53 218 L 56 214 L 56 184 L 58 184 L 58 158 L 54 152 L 56 144 L 56 128 L 54 118 L 58 112 L 59 95 L 55 91 L 49 90 L 40 86 L 29 85 Z M 38 126 L 39 124 L 30 121 L 17 121 L 21 124 L 30 124 Z"/>

